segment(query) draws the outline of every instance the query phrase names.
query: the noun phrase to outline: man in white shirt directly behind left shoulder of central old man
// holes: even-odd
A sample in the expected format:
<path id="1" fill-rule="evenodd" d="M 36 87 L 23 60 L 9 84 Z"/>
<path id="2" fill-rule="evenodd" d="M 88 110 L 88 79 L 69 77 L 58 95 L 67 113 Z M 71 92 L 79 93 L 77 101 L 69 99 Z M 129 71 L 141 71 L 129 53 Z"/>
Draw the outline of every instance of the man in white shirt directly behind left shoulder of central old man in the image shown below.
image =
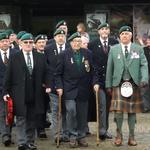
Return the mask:
<path id="1" fill-rule="evenodd" d="M 62 29 L 57 29 L 54 32 L 54 42 L 47 45 L 45 47 L 45 57 L 46 61 L 48 63 L 48 67 L 51 70 L 51 93 L 50 93 L 50 100 L 51 100 L 51 106 L 52 106 L 52 136 L 54 136 L 55 141 L 57 138 L 57 113 L 58 113 L 58 95 L 56 92 L 56 85 L 55 85 L 55 70 L 56 70 L 56 64 L 59 59 L 59 54 L 62 53 L 65 49 L 69 47 L 69 45 L 65 42 L 66 36 L 65 31 Z M 64 110 L 64 109 L 63 109 Z M 66 125 L 65 125 L 65 117 L 63 114 L 63 121 L 62 121 L 62 128 L 63 128 L 63 134 L 61 135 L 60 141 L 68 141 L 68 137 L 66 135 Z"/>

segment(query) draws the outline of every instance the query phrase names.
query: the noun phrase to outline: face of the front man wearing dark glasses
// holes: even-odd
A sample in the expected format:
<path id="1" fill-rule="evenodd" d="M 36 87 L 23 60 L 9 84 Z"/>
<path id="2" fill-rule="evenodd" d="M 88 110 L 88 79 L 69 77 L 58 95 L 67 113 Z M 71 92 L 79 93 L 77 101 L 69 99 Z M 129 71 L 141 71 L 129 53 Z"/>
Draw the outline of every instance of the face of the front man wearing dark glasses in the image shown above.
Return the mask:
<path id="1" fill-rule="evenodd" d="M 26 52 L 32 51 L 32 49 L 33 49 L 33 40 L 23 40 L 23 41 L 21 41 L 21 47 Z"/>

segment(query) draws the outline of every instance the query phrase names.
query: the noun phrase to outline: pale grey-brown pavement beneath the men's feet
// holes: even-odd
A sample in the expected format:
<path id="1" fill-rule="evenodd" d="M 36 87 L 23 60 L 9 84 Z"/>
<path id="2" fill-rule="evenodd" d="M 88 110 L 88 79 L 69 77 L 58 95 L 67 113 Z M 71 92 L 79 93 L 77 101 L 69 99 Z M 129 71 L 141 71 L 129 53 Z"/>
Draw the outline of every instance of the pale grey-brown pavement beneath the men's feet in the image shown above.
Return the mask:
<path id="1" fill-rule="evenodd" d="M 96 122 L 90 122 L 90 132 L 92 135 L 88 136 L 87 142 L 89 146 L 87 148 L 75 148 L 75 150 L 150 150 L 150 113 L 137 114 L 137 124 L 135 129 L 135 138 L 138 143 L 137 146 L 131 147 L 128 146 L 128 124 L 127 124 L 127 114 L 124 115 L 123 123 L 123 145 L 116 147 L 113 144 L 115 138 L 116 126 L 113 121 L 113 113 L 110 113 L 110 127 L 109 132 L 113 135 L 112 140 L 100 141 L 100 144 L 96 144 Z M 40 140 L 36 139 L 36 145 L 38 150 L 69 150 L 68 143 L 61 143 L 59 148 L 56 148 L 54 140 L 50 137 L 50 129 L 46 129 L 48 139 Z M 13 140 L 15 142 L 11 147 L 4 147 L 3 144 L 0 144 L 0 150 L 17 150 L 16 144 L 16 132 L 15 128 L 13 129 Z"/>

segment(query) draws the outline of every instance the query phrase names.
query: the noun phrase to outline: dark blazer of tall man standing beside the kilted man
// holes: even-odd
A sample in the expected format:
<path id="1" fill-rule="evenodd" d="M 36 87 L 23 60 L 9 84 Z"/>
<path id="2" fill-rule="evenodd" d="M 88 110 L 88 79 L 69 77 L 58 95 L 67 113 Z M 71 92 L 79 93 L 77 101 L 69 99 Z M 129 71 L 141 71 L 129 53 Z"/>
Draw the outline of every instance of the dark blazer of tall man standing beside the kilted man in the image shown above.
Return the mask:
<path id="1" fill-rule="evenodd" d="M 108 39 L 108 53 L 110 47 L 117 43 L 118 41 L 113 38 Z M 108 53 L 104 52 L 103 44 L 99 38 L 89 43 L 89 49 L 92 51 L 94 70 L 98 77 L 94 78 L 93 84 L 99 84 L 101 88 L 105 88 Z"/>

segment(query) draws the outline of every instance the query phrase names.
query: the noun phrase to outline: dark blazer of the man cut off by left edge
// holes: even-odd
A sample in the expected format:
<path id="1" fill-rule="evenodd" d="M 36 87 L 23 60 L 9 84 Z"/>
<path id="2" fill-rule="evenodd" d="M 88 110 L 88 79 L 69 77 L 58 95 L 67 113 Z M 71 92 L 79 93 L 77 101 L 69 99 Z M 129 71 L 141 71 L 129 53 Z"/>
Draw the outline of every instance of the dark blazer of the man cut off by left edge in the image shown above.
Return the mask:
<path id="1" fill-rule="evenodd" d="M 17 50 L 14 49 L 9 49 L 9 59 L 10 57 L 15 54 L 16 52 L 18 52 Z M 0 54 L 0 93 L 2 92 L 3 89 L 3 80 L 4 80 L 4 74 L 6 71 L 7 66 L 3 63 L 1 54 Z"/>

